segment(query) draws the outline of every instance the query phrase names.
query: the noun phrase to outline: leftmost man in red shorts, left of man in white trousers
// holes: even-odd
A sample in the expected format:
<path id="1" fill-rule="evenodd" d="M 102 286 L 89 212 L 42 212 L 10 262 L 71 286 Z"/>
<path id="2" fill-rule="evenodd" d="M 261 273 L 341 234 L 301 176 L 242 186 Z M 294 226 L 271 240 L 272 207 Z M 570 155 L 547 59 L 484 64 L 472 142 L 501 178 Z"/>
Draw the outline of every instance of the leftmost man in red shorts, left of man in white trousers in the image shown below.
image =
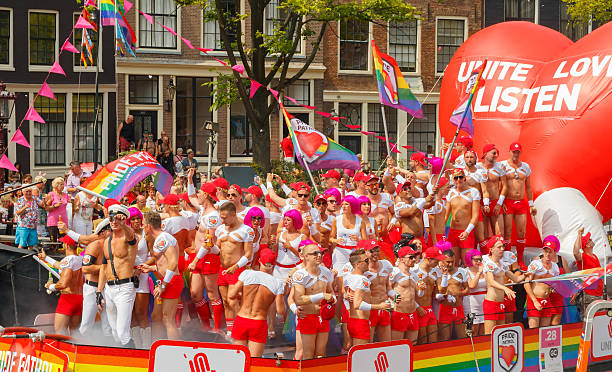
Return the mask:
<path id="1" fill-rule="evenodd" d="M 38 254 L 38 258 L 45 260 L 53 267 L 59 269 L 60 279 L 57 283 L 46 283 L 45 288 L 50 292 L 60 291 L 61 295 L 55 309 L 53 329 L 55 333 L 67 335 L 68 329 L 72 336 L 76 335 L 81 322 L 83 311 L 83 274 L 81 271 L 81 257 L 77 255 L 77 243 L 68 236 L 59 239 L 64 243 L 66 257 L 57 262 L 47 257 L 45 251 Z"/>

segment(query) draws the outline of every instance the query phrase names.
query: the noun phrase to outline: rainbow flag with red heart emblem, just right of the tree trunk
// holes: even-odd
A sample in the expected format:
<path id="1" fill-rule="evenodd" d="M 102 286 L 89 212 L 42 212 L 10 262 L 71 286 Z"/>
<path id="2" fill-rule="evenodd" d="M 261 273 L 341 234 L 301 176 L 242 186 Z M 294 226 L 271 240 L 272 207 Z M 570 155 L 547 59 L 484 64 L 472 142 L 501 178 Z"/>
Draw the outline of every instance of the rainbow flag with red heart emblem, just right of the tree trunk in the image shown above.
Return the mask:
<path id="1" fill-rule="evenodd" d="M 310 169 L 359 169 L 359 159 L 346 147 L 294 117 L 279 102 L 300 164 Z"/>

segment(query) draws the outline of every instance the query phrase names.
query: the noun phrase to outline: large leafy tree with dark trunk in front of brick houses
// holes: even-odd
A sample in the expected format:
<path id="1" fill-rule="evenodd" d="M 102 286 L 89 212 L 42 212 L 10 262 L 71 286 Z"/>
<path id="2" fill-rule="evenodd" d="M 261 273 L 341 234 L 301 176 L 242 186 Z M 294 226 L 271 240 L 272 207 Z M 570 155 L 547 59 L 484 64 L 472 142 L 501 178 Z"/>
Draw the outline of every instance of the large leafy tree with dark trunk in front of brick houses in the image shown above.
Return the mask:
<path id="1" fill-rule="evenodd" d="M 231 1 L 231 0 L 230 0 Z M 240 9 L 240 0 L 233 0 L 234 9 Z M 283 92 L 298 80 L 313 62 L 330 22 L 357 19 L 369 22 L 403 22 L 418 16 L 416 8 L 403 0 L 281 0 L 281 20 L 267 35 L 264 29 L 264 10 L 270 0 L 248 0 L 249 13 L 240 14 L 224 10 L 223 0 L 177 0 L 180 5 L 199 5 L 204 18 L 219 24 L 220 41 L 227 52 L 229 63 L 244 65 L 248 79 Z M 225 8 L 226 9 L 226 8 Z M 250 18 L 250 32 L 245 35 L 242 20 Z M 247 39 L 248 36 L 248 39 Z M 300 40 L 310 42 L 312 49 L 302 67 L 288 76 L 289 63 L 299 47 Z M 235 55 L 235 53 L 237 55 Z M 272 67 L 266 71 L 266 62 Z M 253 161 L 265 170 L 270 169 L 269 116 L 277 103 L 268 104 L 268 92 L 259 89 L 249 99 L 249 80 L 238 72 L 220 74 L 211 83 L 215 100 L 211 109 L 241 100 L 253 133 Z"/>

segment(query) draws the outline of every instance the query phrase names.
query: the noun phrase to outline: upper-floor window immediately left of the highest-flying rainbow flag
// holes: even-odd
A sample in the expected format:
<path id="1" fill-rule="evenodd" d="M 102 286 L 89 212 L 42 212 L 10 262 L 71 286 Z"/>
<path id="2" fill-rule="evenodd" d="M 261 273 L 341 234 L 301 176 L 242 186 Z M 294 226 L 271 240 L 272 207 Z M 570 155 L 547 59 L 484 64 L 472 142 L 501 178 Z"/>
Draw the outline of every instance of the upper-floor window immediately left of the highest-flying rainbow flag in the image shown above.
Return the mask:
<path id="1" fill-rule="evenodd" d="M 368 69 L 369 29 L 366 21 L 340 21 L 340 70 Z"/>

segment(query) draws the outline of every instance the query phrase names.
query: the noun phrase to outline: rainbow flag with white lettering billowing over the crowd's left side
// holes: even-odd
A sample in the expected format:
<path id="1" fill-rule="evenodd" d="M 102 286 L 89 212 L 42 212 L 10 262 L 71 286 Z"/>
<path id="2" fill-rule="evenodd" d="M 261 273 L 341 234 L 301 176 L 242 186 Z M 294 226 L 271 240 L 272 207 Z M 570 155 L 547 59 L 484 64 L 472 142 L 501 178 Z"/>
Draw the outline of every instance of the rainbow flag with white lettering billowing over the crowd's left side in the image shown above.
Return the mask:
<path id="1" fill-rule="evenodd" d="M 120 199 L 148 175 L 157 173 L 154 184 L 166 195 L 172 186 L 172 176 L 146 151 L 135 152 L 106 164 L 81 186 L 102 196 Z"/>

